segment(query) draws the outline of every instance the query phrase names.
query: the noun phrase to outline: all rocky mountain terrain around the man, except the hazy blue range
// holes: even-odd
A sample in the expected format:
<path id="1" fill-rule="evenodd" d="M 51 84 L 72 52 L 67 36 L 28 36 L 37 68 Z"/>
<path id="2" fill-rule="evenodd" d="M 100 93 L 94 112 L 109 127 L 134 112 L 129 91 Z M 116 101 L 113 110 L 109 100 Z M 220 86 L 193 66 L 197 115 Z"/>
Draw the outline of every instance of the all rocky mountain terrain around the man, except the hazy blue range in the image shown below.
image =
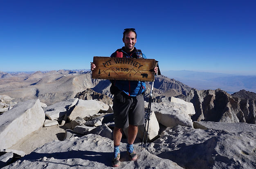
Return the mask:
<path id="1" fill-rule="evenodd" d="M 110 85 L 88 71 L 0 72 L 0 168 L 112 168 Z M 138 127 L 139 158 L 128 159 L 126 128 L 117 168 L 256 168 L 255 93 L 197 90 L 157 76 L 153 102 L 148 131 Z"/>

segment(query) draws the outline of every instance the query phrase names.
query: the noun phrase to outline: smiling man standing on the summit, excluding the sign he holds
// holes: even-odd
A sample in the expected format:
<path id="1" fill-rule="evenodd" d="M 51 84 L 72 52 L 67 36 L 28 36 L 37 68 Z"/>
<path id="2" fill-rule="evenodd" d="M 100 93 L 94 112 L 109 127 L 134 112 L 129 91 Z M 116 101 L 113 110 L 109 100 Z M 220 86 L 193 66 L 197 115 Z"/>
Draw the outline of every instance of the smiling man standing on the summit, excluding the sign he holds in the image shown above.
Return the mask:
<path id="1" fill-rule="evenodd" d="M 135 29 L 124 29 L 123 33 L 124 47 L 117 49 L 112 53 L 111 57 L 134 57 L 145 58 L 141 50 L 135 48 L 137 42 L 137 33 Z M 96 68 L 91 63 L 91 70 Z M 157 67 L 154 68 L 157 73 Z M 119 145 L 122 138 L 122 129 L 128 127 L 128 144 L 126 146 L 130 160 L 136 160 L 137 154 L 133 148 L 133 142 L 137 136 L 138 125 L 144 124 L 144 91 L 146 83 L 144 81 L 123 81 L 111 80 L 112 86 L 110 92 L 114 94 L 113 110 L 114 110 L 114 156 L 112 166 L 120 165 Z"/>

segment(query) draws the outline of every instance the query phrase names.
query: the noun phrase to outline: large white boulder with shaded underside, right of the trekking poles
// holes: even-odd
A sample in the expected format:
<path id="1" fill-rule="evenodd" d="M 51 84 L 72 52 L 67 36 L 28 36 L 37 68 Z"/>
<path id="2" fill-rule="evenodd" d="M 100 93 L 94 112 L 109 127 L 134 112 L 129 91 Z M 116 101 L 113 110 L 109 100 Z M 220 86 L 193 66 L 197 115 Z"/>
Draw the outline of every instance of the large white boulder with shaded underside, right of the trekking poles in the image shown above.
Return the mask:
<path id="1" fill-rule="evenodd" d="M 157 121 L 166 127 L 177 125 L 193 127 L 191 117 L 186 113 L 187 106 L 174 102 L 152 103 L 151 110 L 155 112 Z"/>

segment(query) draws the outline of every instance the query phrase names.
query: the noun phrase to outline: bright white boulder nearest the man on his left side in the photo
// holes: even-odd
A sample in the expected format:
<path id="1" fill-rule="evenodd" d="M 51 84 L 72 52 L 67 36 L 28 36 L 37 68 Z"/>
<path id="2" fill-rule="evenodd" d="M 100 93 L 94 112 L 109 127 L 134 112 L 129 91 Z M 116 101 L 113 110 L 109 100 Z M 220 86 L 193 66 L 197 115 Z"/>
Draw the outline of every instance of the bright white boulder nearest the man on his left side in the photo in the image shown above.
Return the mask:
<path id="1" fill-rule="evenodd" d="M 100 111 L 108 111 L 109 106 L 101 101 L 96 100 L 81 100 L 76 103 L 74 110 L 68 116 L 70 121 L 76 119 L 76 117 L 86 117 L 89 115 L 97 114 Z"/>

